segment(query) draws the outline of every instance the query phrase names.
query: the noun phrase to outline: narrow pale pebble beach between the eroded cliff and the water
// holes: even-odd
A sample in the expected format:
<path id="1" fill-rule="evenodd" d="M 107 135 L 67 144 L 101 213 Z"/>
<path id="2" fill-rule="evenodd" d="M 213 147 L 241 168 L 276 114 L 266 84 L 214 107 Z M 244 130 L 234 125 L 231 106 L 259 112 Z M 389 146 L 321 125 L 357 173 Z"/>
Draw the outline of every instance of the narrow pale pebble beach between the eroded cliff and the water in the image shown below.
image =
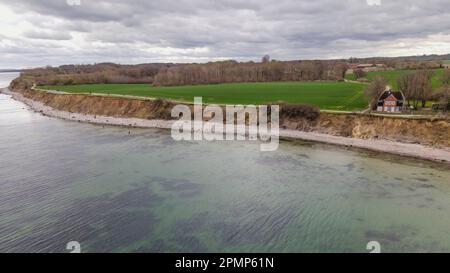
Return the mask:
<path id="1" fill-rule="evenodd" d="M 146 120 L 139 118 L 120 118 L 110 116 L 96 116 L 90 114 L 70 113 L 56 110 L 39 101 L 25 98 L 22 94 L 1 88 L 0 93 L 11 96 L 12 99 L 27 105 L 31 110 L 45 116 L 60 118 L 70 121 L 85 122 L 97 125 L 115 125 L 138 128 L 171 129 L 175 120 Z M 440 163 L 450 164 L 450 148 L 438 149 L 420 144 L 410 144 L 382 139 L 357 139 L 329 134 L 304 132 L 298 130 L 280 129 L 280 138 L 301 139 L 306 141 L 321 142 L 339 146 L 353 147 L 371 150 L 380 153 L 396 154 L 400 156 L 425 159 Z"/>

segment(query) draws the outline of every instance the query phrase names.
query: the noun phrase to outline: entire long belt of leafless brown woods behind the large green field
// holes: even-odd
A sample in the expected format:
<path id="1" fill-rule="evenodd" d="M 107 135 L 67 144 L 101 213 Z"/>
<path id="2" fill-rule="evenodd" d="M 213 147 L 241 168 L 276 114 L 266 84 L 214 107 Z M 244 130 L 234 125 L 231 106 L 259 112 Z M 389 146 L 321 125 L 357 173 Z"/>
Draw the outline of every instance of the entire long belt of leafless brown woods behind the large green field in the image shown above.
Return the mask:
<path id="1" fill-rule="evenodd" d="M 347 65 L 341 61 L 236 61 L 206 64 L 64 65 L 26 70 L 23 78 L 37 85 L 93 83 L 149 83 L 155 86 L 269 81 L 344 79 Z"/>

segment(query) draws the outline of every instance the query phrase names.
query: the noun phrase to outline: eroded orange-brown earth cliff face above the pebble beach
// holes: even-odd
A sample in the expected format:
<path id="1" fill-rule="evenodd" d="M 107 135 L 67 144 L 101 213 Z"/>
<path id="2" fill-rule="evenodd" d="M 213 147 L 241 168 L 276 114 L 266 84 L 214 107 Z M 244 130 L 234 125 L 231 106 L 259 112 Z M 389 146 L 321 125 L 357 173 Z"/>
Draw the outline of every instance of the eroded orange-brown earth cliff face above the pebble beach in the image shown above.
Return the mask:
<path id="1" fill-rule="evenodd" d="M 25 97 L 61 111 L 141 119 L 171 119 L 173 102 L 82 94 L 54 94 L 27 89 Z M 321 113 L 318 118 L 281 118 L 285 129 L 313 131 L 359 139 L 388 139 L 450 147 L 449 120 L 404 119 L 359 114 Z"/>

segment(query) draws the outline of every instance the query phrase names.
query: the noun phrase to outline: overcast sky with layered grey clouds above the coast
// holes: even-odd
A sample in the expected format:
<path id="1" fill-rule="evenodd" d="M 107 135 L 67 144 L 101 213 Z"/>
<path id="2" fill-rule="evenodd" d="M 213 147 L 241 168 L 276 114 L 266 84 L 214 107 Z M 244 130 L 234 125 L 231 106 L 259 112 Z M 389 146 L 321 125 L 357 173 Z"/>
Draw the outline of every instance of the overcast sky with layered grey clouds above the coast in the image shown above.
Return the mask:
<path id="1" fill-rule="evenodd" d="M 449 0 L 0 0 L 0 68 L 432 53 Z"/>

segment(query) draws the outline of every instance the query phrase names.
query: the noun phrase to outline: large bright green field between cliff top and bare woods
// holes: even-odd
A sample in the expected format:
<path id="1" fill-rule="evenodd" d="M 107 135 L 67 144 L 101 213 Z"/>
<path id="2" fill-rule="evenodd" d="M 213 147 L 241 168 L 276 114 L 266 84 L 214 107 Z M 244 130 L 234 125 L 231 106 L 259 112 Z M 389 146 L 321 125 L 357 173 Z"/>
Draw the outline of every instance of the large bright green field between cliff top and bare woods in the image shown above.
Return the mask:
<path id="1" fill-rule="evenodd" d="M 102 93 L 204 103 L 267 104 L 302 103 L 327 110 L 361 110 L 367 107 L 364 84 L 345 82 L 270 82 L 198 86 L 152 87 L 150 84 L 92 84 L 41 86 L 41 89 L 70 93 Z"/>

